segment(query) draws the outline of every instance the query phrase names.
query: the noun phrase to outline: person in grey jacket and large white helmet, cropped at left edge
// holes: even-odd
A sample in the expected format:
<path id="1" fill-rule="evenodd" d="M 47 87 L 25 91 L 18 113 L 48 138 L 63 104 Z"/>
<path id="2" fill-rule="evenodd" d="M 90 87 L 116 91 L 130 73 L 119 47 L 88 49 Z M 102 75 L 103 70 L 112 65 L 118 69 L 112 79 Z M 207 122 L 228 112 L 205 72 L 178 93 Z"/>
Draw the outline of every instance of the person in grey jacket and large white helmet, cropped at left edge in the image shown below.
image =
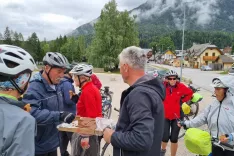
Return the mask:
<path id="1" fill-rule="evenodd" d="M 18 101 L 36 69 L 24 49 L 0 45 L 0 155 L 33 156 L 35 119 L 25 110 L 29 104 Z"/>

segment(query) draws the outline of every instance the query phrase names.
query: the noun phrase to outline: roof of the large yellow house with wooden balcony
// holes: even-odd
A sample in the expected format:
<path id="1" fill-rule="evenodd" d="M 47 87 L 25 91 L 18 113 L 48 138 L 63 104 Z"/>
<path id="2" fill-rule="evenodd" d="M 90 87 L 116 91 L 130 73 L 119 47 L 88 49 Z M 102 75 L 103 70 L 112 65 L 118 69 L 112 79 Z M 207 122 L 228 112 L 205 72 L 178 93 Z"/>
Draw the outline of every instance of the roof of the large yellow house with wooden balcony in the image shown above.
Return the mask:
<path id="1" fill-rule="evenodd" d="M 219 52 L 222 54 L 222 51 L 213 44 L 205 43 L 205 44 L 194 44 L 190 49 L 187 50 L 190 54 L 194 56 L 200 56 L 207 48 L 215 48 L 218 49 Z"/>

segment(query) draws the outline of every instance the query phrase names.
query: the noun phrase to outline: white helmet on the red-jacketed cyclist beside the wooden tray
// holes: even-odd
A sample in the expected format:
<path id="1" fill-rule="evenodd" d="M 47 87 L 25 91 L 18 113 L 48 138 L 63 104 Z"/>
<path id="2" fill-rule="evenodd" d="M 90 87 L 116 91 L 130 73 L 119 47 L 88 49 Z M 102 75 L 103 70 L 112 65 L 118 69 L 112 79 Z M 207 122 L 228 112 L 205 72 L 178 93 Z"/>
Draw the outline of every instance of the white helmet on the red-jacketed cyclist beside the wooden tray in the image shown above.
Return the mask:
<path id="1" fill-rule="evenodd" d="M 93 74 L 93 66 L 87 64 L 78 64 L 71 71 L 71 74 L 74 75 L 85 75 L 87 77 L 91 77 Z"/>

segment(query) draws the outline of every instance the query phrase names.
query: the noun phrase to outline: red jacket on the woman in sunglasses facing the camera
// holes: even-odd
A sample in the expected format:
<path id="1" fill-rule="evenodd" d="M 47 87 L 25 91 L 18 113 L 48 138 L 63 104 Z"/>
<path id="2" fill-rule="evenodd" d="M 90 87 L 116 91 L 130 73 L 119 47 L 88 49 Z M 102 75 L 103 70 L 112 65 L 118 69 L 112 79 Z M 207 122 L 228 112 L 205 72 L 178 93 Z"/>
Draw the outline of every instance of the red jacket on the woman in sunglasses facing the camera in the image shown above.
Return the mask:
<path id="1" fill-rule="evenodd" d="M 181 100 L 182 102 L 189 101 L 193 91 L 180 82 L 177 82 L 174 87 L 164 82 L 164 86 L 166 88 L 166 98 L 163 102 L 165 118 L 173 120 L 176 119 L 176 115 L 180 118 Z"/>

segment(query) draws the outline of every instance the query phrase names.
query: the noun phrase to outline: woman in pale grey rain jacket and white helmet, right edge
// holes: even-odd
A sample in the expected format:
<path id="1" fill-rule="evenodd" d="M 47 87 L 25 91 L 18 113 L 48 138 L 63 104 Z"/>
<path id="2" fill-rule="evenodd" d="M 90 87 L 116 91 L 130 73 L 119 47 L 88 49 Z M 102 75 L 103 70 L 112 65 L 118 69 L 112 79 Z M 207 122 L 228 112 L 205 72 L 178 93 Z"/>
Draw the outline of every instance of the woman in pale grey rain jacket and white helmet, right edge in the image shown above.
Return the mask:
<path id="1" fill-rule="evenodd" d="M 192 120 L 179 123 L 179 126 L 200 127 L 207 124 L 211 136 L 221 142 L 234 145 L 234 79 L 233 76 L 220 76 L 212 80 L 216 99 Z M 234 149 L 213 145 L 212 156 L 233 156 Z"/>

